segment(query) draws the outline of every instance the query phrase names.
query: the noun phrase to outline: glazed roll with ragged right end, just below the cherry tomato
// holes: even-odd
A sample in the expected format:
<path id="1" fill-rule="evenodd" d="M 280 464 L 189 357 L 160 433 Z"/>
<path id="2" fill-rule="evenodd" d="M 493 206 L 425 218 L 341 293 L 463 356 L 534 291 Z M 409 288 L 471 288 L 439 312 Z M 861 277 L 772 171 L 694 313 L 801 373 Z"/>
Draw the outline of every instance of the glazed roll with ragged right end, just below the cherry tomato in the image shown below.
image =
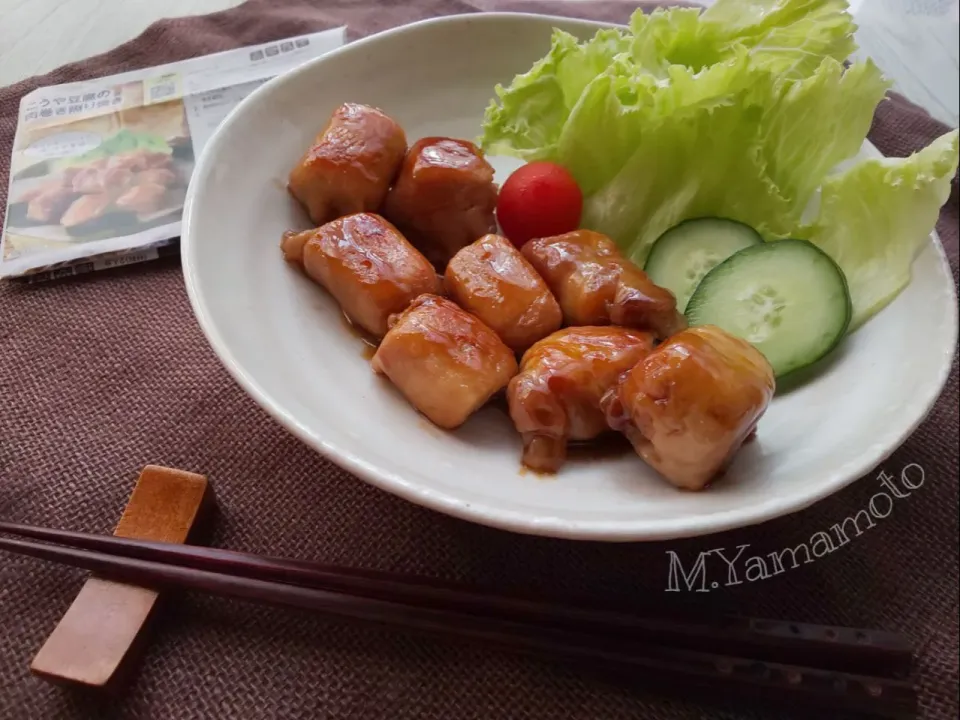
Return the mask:
<path id="1" fill-rule="evenodd" d="M 522 252 L 547 281 L 567 325 L 620 325 L 660 339 L 686 327 L 673 293 L 655 285 L 606 235 L 575 230 L 531 240 Z"/>

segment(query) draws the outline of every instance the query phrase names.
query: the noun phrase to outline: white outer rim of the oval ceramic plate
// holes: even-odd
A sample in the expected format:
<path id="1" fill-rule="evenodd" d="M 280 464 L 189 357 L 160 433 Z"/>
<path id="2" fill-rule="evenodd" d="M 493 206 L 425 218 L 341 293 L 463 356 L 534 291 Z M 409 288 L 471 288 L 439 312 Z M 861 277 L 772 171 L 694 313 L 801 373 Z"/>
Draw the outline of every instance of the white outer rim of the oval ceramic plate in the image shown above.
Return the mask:
<path id="1" fill-rule="evenodd" d="M 930 391 L 922 398 L 922 402 L 916 402 L 910 406 L 911 421 L 905 425 L 902 430 L 890 433 L 884 437 L 881 442 L 873 443 L 870 448 L 867 448 L 858 458 L 848 462 L 847 466 L 849 467 L 841 467 L 838 469 L 835 472 L 835 480 L 824 484 L 817 491 L 805 495 L 801 499 L 797 499 L 794 496 L 789 502 L 785 502 L 780 500 L 779 496 L 774 496 L 762 503 L 749 506 L 749 509 L 738 508 L 736 510 L 727 510 L 707 516 L 695 516 L 695 520 L 692 521 L 687 518 L 673 518 L 666 521 L 646 519 L 641 521 L 638 526 L 636 522 L 623 520 L 576 521 L 548 516 L 530 517 L 523 512 L 505 510 L 489 503 L 463 500 L 447 492 L 425 487 L 416 482 L 411 483 L 393 471 L 378 467 L 363 457 L 341 448 L 329 440 L 318 437 L 306 426 L 298 422 L 293 414 L 286 410 L 285 407 L 273 400 L 260 384 L 248 374 L 234 356 L 228 344 L 224 341 L 217 328 L 216 321 L 207 307 L 204 292 L 200 287 L 201 282 L 198 280 L 198 271 L 194 260 L 194 248 L 197 242 L 192 239 L 194 237 L 194 226 L 196 223 L 195 215 L 198 213 L 195 206 L 197 204 L 197 195 L 200 192 L 199 188 L 212 171 L 210 158 L 213 157 L 215 149 L 224 142 L 224 138 L 230 132 L 230 128 L 236 119 L 240 117 L 248 107 L 258 103 L 261 97 L 268 95 L 280 85 L 290 82 L 294 77 L 308 74 L 316 67 L 330 62 L 332 59 L 340 57 L 341 55 L 362 52 L 365 47 L 380 42 L 387 37 L 410 33 L 427 26 L 465 21 L 498 22 L 512 19 L 534 20 L 545 25 L 556 23 L 563 23 L 568 26 L 580 25 L 584 28 L 623 27 L 613 23 L 594 20 L 518 12 L 465 13 L 419 20 L 390 28 L 353 42 L 348 42 L 321 57 L 307 61 L 286 73 L 272 78 L 244 98 L 220 123 L 208 139 L 200 156 L 195 160 L 194 172 L 184 201 L 181 233 L 181 264 L 187 296 L 194 317 L 200 325 L 207 342 L 213 349 L 214 354 L 231 377 L 233 377 L 234 381 L 237 382 L 244 392 L 264 409 L 275 422 L 279 423 L 305 445 L 320 453 L 334 465 L 351 473 L 359 480 L 407 502 L 461 520 L 518 534 L 566 540 L 658 542 L 708 536 L 728 530 L 759 525 L 776 518 L 798 513 L 840 492 L 857 480 L 864 478 L 871 470 L 875 469 L 890 455 L 896 452 L 896 450 L 913 435 L 919 425 L 933 410 L 934 405 L 943 394 L 943 390 L 946 387 L 950 372 L 956 360 L 958 330 L 960 330 L 958 329 L 958 314 L 960 313 L 958 313 L 958 297 L 955 282 L 947 283 L 951 298 L 949 308 L 946 310 L 949 315 L 947 318 L 949 321 L 947 326 L 950 328 L 950 337 L 946 338 L 949 342 L 945 342 L 942 347 L 943 361 L 940 364 L 939 375 L 935 383 L 928 385 Z M 883 157 L 882 153 L 880 153 L 869 139 L 865 141 L 865 147 L 871 154 Z M 936 229 L 930 233 L 929 237 L 937 254 L 940 269 L 944 272 L 947 279 L 953 278 L 949 260 Z M 920 252 L 922 252 L 922 250 L 918 251 L 915 259 L 919 256 Z"/>

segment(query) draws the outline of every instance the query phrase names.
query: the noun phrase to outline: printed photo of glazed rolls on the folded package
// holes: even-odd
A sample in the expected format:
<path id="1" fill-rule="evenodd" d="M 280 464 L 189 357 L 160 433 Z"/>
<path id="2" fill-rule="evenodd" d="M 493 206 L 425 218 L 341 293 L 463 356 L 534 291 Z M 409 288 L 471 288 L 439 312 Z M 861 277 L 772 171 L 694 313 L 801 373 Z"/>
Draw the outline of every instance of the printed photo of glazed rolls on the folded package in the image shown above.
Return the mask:
<path id="1" fill-rule="evenodd" d="M 51 118 L 19 133 L 5 257 L 179 220 L 194 163 L 183 101 L 123 105 L 73 122 Z"/>

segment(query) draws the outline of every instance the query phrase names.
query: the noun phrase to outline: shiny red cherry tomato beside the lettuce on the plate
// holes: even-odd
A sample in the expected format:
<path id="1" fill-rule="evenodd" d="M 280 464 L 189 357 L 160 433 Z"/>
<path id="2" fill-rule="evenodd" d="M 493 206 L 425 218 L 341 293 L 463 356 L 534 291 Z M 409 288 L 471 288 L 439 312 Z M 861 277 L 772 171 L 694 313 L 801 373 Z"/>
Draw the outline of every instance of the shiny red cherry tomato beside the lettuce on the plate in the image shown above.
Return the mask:
<path id="1" fill-rule="evenodd" d="M 533 162 L 516 170 L 500 188 L 497 220 L 517 247 L 538 237 L 576 230 L 583 193 L 573 176 L 556 163 Z"/>

